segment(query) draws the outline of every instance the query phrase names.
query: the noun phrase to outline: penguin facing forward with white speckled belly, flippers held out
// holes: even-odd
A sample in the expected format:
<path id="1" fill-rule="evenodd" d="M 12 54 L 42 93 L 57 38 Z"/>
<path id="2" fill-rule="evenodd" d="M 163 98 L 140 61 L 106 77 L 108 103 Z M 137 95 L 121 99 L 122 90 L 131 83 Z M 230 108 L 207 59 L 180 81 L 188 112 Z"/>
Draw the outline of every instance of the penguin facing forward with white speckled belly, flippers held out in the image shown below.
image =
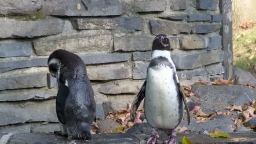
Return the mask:
<path id="1" fill-rule="evenodd" d="M 171 60 L 171 46 L 167 35 L 155 37 L 152 44 L 151 61 L 147 77 L 131 106 L 131 120 L 144 100 L 144 114 L 147 123 L 153 128 L 147 144 L 155 144 L 159 136 L 155 128 L 165 131 L 170 138 L 165 144 L 176 143 L 176 130 L 184 115 L 184 105 L 190 123 L 189 109 Z"/>

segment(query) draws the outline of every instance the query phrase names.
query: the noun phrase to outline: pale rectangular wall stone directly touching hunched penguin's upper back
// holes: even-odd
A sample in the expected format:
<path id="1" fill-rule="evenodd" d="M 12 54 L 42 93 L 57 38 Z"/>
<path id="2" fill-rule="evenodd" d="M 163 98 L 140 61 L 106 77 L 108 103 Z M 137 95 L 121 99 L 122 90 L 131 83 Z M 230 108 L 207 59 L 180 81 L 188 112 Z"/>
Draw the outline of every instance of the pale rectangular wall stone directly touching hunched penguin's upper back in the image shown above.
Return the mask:
<path id="1" fill-rule="evenodd" d="M 128 67 L 87 67 L 87 73 L 90 80 L 117 80 L 131 77 Z"/>

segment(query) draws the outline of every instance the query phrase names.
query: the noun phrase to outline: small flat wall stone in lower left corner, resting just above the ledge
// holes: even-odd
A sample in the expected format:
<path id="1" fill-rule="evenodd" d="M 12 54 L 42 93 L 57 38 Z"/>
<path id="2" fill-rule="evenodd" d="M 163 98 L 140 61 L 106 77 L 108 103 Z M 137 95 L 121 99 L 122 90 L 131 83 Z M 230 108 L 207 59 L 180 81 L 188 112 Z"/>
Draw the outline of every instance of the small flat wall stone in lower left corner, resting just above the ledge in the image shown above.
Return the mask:
<path id="1" fill-rule="evenodd" d="M 30 133 L 31 125 L 15 125 L 0 128 L 0 133 Z"/>

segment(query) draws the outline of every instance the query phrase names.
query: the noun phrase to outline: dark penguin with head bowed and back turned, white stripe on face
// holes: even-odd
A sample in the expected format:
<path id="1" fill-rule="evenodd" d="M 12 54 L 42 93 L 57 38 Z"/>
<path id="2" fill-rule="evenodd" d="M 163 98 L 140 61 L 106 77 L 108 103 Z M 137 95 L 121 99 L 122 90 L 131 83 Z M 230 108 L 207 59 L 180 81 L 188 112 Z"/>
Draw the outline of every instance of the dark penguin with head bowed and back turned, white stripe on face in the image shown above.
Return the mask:
<path id="1" fill-rule="evenodd" d="M 48 68 L 58 83 L 56 112 L 61 131 L 54 133 L 91 139 L 96 103 L 82 59 L 74 53 L 56 50 L 48 58 Z"/>

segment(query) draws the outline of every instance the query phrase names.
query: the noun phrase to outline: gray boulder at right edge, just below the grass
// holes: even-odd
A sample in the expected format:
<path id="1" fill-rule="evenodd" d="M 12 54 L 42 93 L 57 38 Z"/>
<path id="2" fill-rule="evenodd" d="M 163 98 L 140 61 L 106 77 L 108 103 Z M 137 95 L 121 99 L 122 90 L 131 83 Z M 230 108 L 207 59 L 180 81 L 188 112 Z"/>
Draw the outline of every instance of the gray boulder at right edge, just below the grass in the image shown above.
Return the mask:
<path id="1" fill-rule="evenodd" d="M 251 74 L 251 72 L 245 72 L 238 67 L 233 68 L 232 77 L 235 79 L 236 84 L 242 84 L 242 85 L 252 84 L 256 86 L 256 78 L 253 76 L 253 74 Z"/>

